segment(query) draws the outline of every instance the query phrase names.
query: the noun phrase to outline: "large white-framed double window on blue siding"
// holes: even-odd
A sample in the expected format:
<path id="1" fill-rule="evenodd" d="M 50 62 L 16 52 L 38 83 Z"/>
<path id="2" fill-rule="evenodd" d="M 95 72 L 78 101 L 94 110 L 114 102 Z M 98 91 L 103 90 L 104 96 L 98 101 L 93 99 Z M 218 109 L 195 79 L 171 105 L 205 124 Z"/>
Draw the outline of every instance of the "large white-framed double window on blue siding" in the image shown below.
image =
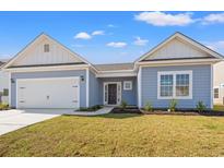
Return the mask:
<path id="1" fill-rule="evenodd" d="M 192 98 L 192 71 L 158 72 L 158 99 Z"/>

